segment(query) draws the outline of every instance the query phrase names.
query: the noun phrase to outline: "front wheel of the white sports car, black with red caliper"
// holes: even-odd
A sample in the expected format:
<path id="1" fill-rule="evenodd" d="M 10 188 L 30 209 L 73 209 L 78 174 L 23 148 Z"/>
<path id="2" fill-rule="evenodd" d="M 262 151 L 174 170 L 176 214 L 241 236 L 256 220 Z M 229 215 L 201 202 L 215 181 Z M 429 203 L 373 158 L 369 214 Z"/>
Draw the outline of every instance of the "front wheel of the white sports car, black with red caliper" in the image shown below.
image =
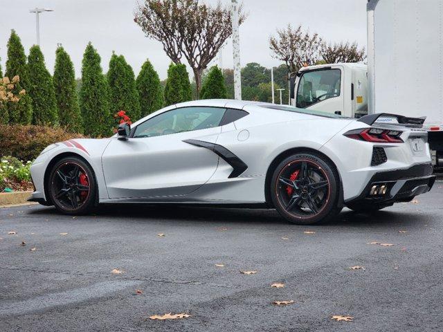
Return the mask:
<path id="1" fill-rule="evenodd" d="M 87 214 L 95 205 L 96 178 L 91 166 L 81 158 L 66 157 L 57 161 L 46 187 L 48 199 L 63 214 Z"/>

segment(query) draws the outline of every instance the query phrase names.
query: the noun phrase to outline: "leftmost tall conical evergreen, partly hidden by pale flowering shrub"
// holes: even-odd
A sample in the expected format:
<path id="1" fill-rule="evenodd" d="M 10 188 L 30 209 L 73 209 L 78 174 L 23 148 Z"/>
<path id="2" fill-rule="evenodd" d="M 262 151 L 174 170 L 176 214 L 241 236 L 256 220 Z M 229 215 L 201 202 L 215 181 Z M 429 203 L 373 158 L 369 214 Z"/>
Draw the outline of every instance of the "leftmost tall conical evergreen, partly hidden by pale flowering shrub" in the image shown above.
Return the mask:
<path id="1" fill-rule="evenodd" d="M 5 76 L 10 78 L 19 75 L 20 82 L 17 84 L 17 90 L 29 90 L 28 66 L 26 65 L 26 55 L 20 37 L 11 30 L 8 40 L 8 60 L 6 60 Z M 26 93 L 20 98 L 19 102 L 8 104 L 9 122 L 30 124 L 33 119 L 33 106 L 30 94 Z"/>

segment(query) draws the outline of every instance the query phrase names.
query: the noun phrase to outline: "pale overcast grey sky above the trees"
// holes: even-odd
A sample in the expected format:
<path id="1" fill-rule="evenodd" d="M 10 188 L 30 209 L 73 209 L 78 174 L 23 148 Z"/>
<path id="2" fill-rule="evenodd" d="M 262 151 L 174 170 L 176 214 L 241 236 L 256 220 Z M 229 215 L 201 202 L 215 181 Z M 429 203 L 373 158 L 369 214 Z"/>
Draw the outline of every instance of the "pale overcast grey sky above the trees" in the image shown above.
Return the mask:
<path id="1" fill-rule="evenodd" d="M 143 1 L 143 0 L 139 0 Z M 217 3 L 217 0 L 206 0 Z M 347 41 L 366 45 L 367 0 L 243 0 L 246 22 L 240 26 L 242 66 L 258 62 L 278 66 L 269 50 L 269 37 L 287 24 L 301 24 L 330 42 Z M 170 59 L 160 42 L 145 37 L 134 23 L 137 0 L 0 0 L 0 63 L 5 68 L 6 44 L 15 29 L 26 55 L 36 43 L 35 14 L 30 9 L 51 8 L 40 15 L 40 46 L 48 70 L 53 73 L 55 49 L 62 44 L 71 55 L 77 77 L 81 76 L 82 55 L 88 42 L 98 50 L 106 72 L 114 50 L 123 54 L 136 75 L 149 58 L 161 79 L 165 79 Z M 230 0 L 221 0 L 228 6 Z M 214 64 L 233 66 L 232 42 L 228 39 Z"/>

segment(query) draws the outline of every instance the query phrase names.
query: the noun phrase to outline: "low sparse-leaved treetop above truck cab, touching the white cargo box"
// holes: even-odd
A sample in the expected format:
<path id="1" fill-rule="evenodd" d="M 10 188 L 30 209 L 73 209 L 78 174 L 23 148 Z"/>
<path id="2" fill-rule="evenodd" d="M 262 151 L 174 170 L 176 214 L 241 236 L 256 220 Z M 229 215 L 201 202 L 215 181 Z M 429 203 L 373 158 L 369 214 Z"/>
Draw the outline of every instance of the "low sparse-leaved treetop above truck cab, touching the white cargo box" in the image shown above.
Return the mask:
<path id="1" fill-rule="evenodd" d="M 341 42 L 336 44 L 323 44 L 320 48 L 320 55 L 327 64 L 337 64 L 338 62 L 362 62 L 366 59 L 364 47 L 354 42 Z"/>

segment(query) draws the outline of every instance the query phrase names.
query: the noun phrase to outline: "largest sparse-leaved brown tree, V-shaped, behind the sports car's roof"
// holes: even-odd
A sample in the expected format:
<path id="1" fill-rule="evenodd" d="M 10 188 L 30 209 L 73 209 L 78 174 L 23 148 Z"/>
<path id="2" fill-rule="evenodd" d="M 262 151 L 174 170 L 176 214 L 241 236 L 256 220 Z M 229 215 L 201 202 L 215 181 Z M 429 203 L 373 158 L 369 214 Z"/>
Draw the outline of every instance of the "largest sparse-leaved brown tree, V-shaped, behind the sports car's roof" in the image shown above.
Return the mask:
<path id="1" fill-rule="evenodd" d="M 241 11 L 240 24 L 246 18 Z M 203 71 L 232 34 L 230 9 L 199 0 L 145 0 L 134 15 L 146 37 L 161 42 L 172 62 L 179 64 L 186 58 L 194 72 L 198 97 Z"/>

